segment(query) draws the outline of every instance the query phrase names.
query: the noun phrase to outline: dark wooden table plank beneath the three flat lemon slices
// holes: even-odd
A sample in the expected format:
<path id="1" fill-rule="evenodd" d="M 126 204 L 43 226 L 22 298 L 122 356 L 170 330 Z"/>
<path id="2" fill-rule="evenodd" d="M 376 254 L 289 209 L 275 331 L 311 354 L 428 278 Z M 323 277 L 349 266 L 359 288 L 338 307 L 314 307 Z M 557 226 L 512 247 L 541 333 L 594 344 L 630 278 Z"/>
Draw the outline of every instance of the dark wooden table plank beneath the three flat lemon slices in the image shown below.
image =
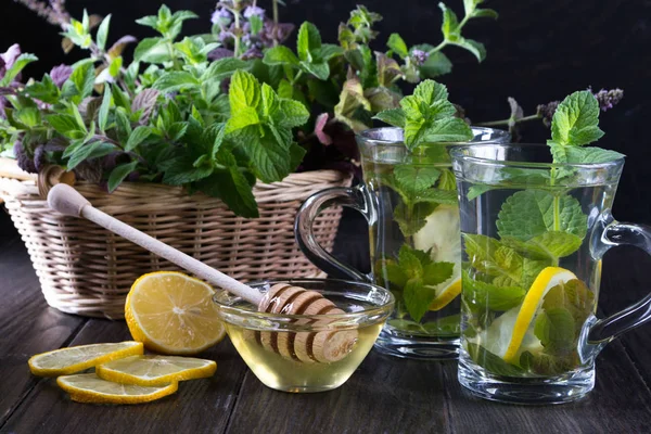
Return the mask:
<path id="1" fill-rule="evenodd" d="M 90 320 L 71 345 L 130 340 L 124 321 Z M 217 360 L 217 373 L 179 384 L 176 394 L 138 406 L 72 401 L 54 380 L 43 380 L 7 424 L 9 433 L 222 433 L 237 399 L 245 366 L 230 342 L 199 355 Z"/>

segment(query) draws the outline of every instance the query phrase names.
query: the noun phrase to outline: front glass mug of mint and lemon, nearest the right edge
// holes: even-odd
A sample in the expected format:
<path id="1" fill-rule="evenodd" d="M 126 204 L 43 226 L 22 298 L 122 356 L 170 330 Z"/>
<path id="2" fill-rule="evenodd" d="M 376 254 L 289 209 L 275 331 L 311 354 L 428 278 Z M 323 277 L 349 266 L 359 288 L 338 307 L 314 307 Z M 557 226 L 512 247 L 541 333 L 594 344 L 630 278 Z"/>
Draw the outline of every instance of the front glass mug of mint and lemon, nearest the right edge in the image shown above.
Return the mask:
<path id="1" fill-rule="evenodd" d="M 551 164 L 547 145 L 452 151 L 462 234 L 459 381 L 477 396 L 516 404 L 578 399 L 595 358 L 651 317 L 651 295 L 595 317 L 601 258 L 651 231 L 620 224 L 611 206 L 624 159 Z"/>

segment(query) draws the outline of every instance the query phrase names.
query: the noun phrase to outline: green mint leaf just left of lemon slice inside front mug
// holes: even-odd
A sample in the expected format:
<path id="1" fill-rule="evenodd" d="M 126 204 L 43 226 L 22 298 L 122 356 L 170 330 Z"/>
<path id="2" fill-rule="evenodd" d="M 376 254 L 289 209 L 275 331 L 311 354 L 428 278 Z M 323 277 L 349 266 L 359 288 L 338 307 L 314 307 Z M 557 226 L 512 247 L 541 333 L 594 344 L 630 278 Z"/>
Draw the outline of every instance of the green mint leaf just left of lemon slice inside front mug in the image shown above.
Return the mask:
<path id="1" fill-rule="evenodd" d="M 497 286 L 472 279 L 468 271 L 461 271 L 463 279 L 463 297 L 480 310 L 505 311 L 519 306 L 526 291 L 521 286 Z"/>

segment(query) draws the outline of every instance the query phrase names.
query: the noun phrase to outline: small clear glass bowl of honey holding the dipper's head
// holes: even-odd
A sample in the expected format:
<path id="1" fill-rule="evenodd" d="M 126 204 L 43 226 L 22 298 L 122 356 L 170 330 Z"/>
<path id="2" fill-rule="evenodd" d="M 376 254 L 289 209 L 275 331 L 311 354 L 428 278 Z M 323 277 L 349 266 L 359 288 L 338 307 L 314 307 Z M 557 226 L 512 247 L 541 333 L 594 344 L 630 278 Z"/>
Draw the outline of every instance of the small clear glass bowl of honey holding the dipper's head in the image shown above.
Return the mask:
<path id="1" fill-rule="evenodd" d="M 244 362 L 266 386 L 283 392 L 324 392 L 344 384 L 373 347 L 395 303 L 381 286 L 345 280 L 268 280 L 250 286 L 261 294 L 280 289 L 273 294 L 284 307 L 275 298 L 259 311 L 226 291 L 214 301 Z"/>

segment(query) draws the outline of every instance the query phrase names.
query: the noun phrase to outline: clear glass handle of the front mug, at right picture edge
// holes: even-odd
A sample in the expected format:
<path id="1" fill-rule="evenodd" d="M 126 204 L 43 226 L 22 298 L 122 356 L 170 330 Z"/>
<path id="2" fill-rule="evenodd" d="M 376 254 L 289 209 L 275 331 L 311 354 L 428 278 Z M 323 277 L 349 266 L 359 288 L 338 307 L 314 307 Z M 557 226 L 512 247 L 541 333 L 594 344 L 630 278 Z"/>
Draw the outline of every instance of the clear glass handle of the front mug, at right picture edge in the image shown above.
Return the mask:
<path id="1" fill-rule="evenodd" d="M 633 245 L 651 255 L 651 228 L 642 225 L 612 221 L 605 226 L 599 240 L 602 246 L 599 257 L 618 245 Z M 587 335 L 592 345 L 604 345 L 628 330 L 651 320 L 651 293 L 644 298 L 608 318 L 593 320 Z"/>

